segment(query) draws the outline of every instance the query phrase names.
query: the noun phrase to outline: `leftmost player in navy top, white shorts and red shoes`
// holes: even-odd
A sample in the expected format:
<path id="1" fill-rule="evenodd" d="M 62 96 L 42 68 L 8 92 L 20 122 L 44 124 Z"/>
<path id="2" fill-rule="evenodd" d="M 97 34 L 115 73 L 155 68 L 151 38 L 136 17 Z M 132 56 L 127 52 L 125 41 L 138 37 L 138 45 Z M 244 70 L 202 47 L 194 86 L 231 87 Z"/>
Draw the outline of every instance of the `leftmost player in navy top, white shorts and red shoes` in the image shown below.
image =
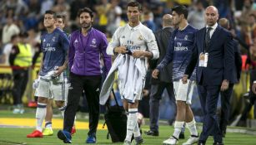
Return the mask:
<path id="1" fill-rule="evenodd" d="M 68 36 L 56 27 L 56 13 L 48 10 L 44 14 L 44 27 L 47 32 L 41 36 L 41 50 L 43 59 L 39 71 L 38 88 L 35 96 L 38 96 L 38 108 L 36 112 L 37 128 L 27 135 L 27 138 L 42 138 L 42 124 L 46 116 L 48 99 L 55 99 L 58 109 L 64 114 L 65 94 L 68 93 L 63 84 L 63 70 L 68 64 L 67 51 L 69 46 Z"/>

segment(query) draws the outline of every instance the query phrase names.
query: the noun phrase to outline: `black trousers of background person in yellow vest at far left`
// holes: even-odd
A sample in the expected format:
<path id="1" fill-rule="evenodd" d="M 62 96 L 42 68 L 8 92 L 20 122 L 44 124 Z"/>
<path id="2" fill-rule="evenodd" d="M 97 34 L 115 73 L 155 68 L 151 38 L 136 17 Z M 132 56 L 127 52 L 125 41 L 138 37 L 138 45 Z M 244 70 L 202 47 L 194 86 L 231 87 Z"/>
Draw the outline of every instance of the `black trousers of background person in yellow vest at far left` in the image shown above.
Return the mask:
<path id="1" fill-rule="evenodd" d="M 13 70 L 13 104 L 23 104 L 22 98 L 28 83 L 28 70 Z"/>

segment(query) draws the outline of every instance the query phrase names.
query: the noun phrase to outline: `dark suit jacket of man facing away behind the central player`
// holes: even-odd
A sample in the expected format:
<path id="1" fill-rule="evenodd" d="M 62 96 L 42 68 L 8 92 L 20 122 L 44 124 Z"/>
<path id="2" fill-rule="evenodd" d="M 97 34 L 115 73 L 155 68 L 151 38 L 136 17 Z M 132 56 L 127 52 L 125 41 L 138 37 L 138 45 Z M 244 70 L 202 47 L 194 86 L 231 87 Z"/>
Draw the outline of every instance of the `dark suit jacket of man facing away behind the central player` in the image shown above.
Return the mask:
<path id="1" fill-rule="evenodd" d="M 154 33 L 156 41 L 158 43 L 159 58 L 158 60 L 149 60 L 150 69 L 154 70 L 157 67 L 157 65 L 163 60 L 168 49 L 168 41 L 172 36 L 173 30 L 173 27 L 165 27 Z M 151 83 L 157 84 L 160 81 L 167 83 L 173 82 L 173 63 L 169 63 L 163 69 L 163 71 L 159 72 L 158 79 L 152 78 Z"/>

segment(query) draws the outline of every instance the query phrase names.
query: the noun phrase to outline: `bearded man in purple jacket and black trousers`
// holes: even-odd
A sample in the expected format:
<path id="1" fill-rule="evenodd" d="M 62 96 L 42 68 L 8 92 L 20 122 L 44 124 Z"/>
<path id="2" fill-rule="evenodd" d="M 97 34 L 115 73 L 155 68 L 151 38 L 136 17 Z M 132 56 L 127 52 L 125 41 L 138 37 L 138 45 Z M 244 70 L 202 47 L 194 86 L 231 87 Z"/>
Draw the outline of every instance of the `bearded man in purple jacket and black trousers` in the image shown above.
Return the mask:
<path id="1" fill-rule="evenodd" d="M 70 89 L 65 110 L 63 130 L 58 131 L 58 138 L 64 143 L 71 142 L 73 121 L 78 109 L 79 99 L 84 91 L 88 100 L 89 132 L 86 143 L 96 143 L 96 131 L 99 119 L 99 87 L 102 75 L 100 56 L 103 56 L 104 73 L 108 74 L 111 57 L 106 54 L 107 37 L 92 27 L 93 11 L 88 7 L 78 11 L 81 29 L 70 36 L 68 66 L 70 68 Z"/>

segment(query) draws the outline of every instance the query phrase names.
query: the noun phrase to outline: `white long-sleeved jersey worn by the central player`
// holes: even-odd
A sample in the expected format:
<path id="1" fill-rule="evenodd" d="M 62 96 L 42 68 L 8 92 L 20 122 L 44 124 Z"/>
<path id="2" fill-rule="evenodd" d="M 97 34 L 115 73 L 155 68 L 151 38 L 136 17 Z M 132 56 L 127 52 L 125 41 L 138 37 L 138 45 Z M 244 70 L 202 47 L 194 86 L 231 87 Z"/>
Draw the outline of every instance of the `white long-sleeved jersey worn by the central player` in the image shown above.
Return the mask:
<path id="1" fill-rule="evenodd" d="M 108 55 L 113 55 L 113 48 L 118 46 L 126 46 L 131 51 L 151 51 L 153 53 L 152 59 L 159 57 L 158 45 L 153 31 L 142 23 L 139 23 L 137 27 L 130 27 L 128 24 L 124 27 L 118 27 L 118 30 L 113 34 L 112 41 L 108 44 Z"/>

